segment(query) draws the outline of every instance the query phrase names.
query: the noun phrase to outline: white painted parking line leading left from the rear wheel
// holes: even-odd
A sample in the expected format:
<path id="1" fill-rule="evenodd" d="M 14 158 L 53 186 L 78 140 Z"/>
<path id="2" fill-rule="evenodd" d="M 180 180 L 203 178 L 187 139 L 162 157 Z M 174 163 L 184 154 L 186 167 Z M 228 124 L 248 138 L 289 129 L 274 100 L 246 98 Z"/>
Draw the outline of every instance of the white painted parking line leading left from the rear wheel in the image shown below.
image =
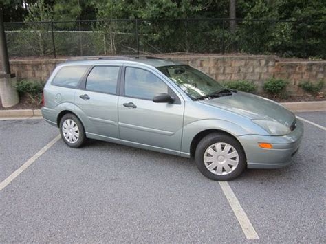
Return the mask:
<path id="1" fill-rule="evenodd" d="M 11 181 L 13 181 L 17 176 L 19 176 L 23 170 L 28 168 L 31 164 L 33 164 L 36 159 L 41 157 L 47 149 L 49 149 L 51 146 L 53 146 L 58 140 L 60 139 L 60 135 L 57 135 L 51 142 L 49 142 L 47 145 L 45 145 L 40 151 L 38 151 L 34 156 L 32 156 L 28 161 L 25 162 L 22 166 L 20 166 L 17 170 L 14 171 L 11 175 L 9 175 L 4 181 L 0 183 L 0 190 L 3 190 L 6 186 L 10 184 Z"/>

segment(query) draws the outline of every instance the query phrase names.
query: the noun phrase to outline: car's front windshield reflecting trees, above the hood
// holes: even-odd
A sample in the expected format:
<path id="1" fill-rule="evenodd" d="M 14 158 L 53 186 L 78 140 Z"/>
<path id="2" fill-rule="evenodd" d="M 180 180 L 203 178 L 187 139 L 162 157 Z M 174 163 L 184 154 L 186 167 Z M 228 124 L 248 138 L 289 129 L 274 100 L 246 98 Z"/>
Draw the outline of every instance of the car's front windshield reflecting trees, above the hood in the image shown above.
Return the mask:
<path id="1" fill-rule="evenodd" d="M 177 84 L 191 99 L 210 98 L 224 91 L 230 92 L 216 80 L 189 65 L 157 67 Z"/>

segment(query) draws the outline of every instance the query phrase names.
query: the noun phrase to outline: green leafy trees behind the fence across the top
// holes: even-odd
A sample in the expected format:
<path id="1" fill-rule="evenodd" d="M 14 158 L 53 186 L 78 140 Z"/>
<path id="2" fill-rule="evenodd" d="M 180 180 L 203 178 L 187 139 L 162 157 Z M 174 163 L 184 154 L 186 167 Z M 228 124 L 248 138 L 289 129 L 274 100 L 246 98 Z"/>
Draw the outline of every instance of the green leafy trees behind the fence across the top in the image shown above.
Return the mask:
<path id="1" fill-rule="evenodd" d="M 326 58 L 325 0 L 238 0 L 237 18 L 243 20 L 237 21 L 235 32 L 230 21 L 191 20 L 228 18 L 228 7 L 228 0 L 6 0 L 4 14 L 10 21 L 124 19 L 56 23 L 54 42 L 61 55 L 135 54 L 135 19 L 144 19 L 138 22 L 142 54 L 224 51 Z M 44 23 L 14 28 L 25 32 L 8 33 L 10 55 L 52 54 L 50 27 Z"/>

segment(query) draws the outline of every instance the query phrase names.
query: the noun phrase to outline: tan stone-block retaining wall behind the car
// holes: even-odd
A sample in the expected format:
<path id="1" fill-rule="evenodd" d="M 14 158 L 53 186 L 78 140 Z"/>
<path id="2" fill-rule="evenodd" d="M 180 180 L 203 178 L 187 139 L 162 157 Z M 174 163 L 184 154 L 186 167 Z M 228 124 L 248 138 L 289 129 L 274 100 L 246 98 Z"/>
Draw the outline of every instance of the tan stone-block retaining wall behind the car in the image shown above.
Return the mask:
<path id="1" fill-rule="evenodd" d="M 326 61 L 279 61 L 277 56 L 251 55 L 180 55 L 160 56 L 171 58 L 181 63 L 196 67 L 219 81 L 251 80 L 262 91 L 263 82 L 269 78 L 289 80 L 287 90 L 300 95 L 303 91 L 298 87 L 301 81 L 318 82 L 326 79 Z M 58 63 L 66 59 L 47 60 L 11 60 L 12 72 L 17 78 L 44 82 Z M 326 91 L 326 85 L 324 86 Z"/>

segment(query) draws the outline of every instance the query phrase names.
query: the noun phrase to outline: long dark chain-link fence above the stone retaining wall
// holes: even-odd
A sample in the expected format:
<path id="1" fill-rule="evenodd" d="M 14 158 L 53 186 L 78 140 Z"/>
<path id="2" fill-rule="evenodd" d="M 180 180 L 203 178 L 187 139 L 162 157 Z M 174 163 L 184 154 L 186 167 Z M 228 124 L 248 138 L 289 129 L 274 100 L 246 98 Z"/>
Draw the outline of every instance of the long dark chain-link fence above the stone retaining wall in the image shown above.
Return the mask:
<path id="1" fill-rule="evenodd" d="M 125 19 L 5 23 L 5 29 L 10 57 L 246 53 L 326 58 L 326 22 Z"/>

